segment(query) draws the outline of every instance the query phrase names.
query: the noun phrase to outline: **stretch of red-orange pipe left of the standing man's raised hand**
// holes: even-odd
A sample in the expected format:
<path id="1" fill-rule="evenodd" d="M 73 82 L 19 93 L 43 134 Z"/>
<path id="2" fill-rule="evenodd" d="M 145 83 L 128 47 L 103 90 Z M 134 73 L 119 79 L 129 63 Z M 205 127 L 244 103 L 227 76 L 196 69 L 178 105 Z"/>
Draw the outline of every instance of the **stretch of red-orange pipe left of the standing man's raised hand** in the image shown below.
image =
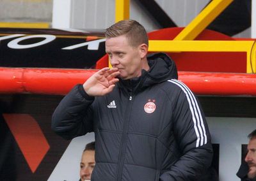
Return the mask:
<path id="1" fill-rule="evenodd" d="M 65 95 L 97 70 L 57 68 L 0 68 L 0 93 Z"/>

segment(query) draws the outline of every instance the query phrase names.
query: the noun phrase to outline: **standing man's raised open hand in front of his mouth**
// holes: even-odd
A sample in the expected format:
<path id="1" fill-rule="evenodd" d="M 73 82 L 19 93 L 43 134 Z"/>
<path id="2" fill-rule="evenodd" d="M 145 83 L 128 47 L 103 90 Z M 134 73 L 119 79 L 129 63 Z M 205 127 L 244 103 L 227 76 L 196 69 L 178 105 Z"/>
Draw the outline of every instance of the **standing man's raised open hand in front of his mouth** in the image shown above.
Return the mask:
<path id="1" fill-rule="evenodd" d="M 106 95 L 113 90 L 119 81 L 115 78 L 119 74 L 118 68 L 102 68 L 83 84 L 84 91 L 90 96 Z"/>

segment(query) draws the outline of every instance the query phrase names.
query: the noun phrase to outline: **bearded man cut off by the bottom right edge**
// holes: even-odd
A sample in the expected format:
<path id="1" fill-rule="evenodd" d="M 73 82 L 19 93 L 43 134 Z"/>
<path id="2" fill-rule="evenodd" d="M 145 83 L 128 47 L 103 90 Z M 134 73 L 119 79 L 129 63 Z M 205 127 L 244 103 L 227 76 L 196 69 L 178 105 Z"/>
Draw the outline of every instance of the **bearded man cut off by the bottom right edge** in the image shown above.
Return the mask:
<path id="1" fill-rule="evenodd" d="M 248 135 L 249 143 L 247 146 L 247 154 L 242 162 L 237 177 L 243 181 L 256 181 L 256 130 Z"/>

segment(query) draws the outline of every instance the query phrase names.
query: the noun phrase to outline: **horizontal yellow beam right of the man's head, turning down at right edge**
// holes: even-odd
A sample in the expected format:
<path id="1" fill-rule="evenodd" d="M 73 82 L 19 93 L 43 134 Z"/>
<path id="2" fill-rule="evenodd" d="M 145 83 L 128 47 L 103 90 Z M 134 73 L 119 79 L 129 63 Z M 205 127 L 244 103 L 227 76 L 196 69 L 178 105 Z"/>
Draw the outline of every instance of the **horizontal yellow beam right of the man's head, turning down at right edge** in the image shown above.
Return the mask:
<path id="1" fill-rule="evenodd" d="M 150 52 L 246 52 L 246 72 L 256 71 L 255 41 L 149 40 Z"/>

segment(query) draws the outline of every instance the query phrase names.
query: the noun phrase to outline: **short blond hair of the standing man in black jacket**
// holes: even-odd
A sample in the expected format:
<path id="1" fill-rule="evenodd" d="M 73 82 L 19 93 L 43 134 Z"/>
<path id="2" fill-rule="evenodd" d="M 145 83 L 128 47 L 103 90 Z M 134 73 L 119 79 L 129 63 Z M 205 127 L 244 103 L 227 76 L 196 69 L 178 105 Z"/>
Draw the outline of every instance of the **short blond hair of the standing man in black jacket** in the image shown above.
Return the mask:
<path id="1" fill-rule="evenodd" d="M 136 20 L 120 20 L 106 29 L 106 38 L 125 35 L 133 47 L 145 43 L 148 45 L 148 35 L 145 28 Z"/>

